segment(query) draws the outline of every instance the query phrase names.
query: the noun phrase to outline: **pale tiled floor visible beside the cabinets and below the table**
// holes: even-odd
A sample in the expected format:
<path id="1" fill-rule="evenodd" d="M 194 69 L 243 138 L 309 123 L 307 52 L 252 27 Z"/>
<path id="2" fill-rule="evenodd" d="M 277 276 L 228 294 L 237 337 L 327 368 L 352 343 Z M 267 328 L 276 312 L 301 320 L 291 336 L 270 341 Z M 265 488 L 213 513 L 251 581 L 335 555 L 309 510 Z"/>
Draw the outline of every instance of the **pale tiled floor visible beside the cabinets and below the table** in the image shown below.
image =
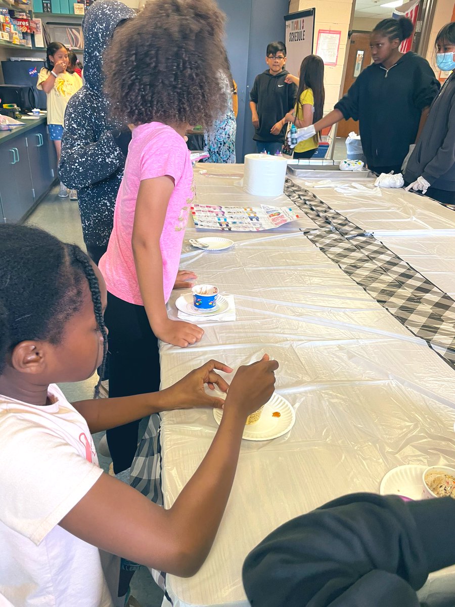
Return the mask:
<path id="1" fill-rule="evenodd" d="M 38 228 L 54 234 L 64 242 L 72 242 L 85 250 L 79 217 L 78 203 L 69 198 L 58 197 L 58 186 L 39 203 L 25 222 L 27 225 L 35 225 Z M 73 384 L 60 384 L 60 387 L 70 402 L 92 398 L 93 388 L 98 381 L 98 376 Z M 93 435 L 96 448 L 104 432 Z M 107 472 L 110 459 L 99 455 L 99 465 Z M 138 600 L 141 607 L 160 607 L 163 592 L 153 582 L 149 570 L 141 567 L 131 581 L 131 594 Z"/>

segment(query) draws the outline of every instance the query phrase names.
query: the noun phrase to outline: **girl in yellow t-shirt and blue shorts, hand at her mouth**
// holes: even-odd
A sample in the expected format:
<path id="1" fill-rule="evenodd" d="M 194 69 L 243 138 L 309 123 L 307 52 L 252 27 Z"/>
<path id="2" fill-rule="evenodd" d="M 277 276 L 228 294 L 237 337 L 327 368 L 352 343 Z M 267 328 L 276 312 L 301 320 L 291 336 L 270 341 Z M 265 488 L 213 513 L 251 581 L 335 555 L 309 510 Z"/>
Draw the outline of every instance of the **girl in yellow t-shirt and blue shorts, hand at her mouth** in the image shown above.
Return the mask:
<path id="1" fill-rule="evenodd" d="M 70 100 L 82 87 L 81 76 L 67 71 L 69 65 L 68 49 L 61 42 L 51 42 L 46 49 L 45 67 L 38 75 L 36 88 L 44 90 L 47 97 L 47 128 L 49 138 L 55 144 L 57 163 L 60 161 L 60 150 L 63 135 L 65 110 Z M 66 198 L 66 186 L 60 184 L 60 198 Z"/>

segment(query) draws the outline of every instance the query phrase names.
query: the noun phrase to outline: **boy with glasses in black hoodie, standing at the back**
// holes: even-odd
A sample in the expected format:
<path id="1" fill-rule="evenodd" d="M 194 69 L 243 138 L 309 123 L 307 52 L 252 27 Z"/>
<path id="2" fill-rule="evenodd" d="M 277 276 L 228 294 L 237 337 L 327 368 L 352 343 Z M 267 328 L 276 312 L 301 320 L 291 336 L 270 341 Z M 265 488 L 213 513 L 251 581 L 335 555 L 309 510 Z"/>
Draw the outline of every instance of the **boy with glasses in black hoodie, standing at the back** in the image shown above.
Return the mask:
<path id="1" fill-rule="evenodd" d="M 285 70 L 284 42 L 271 42 L 268 45 L 266 64 L 269 69 L 255 78 L 249 106 L 257 151 L 273 155 L 283 148 L 286 125 L 281 127 L 281 118 L 294 108 L 297 86 L 285 82 L 289 72 Z"/>

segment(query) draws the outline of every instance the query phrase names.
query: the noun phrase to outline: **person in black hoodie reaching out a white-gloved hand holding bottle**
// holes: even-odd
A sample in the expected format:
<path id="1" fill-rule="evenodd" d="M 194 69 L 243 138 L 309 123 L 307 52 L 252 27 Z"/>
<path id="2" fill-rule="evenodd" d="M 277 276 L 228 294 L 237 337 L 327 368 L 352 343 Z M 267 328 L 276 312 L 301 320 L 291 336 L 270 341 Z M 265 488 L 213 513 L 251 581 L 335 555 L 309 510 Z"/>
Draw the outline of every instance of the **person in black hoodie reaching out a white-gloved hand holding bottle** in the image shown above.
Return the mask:
<path id="1" fill-rule="evenodd" d="M 360 139 L 368 168 L 399 173 L 409 146 L 416 143 L 419 124 L 439 91 L 439 82 L 426 59 L 403 55 L 399 46 L 413 33 L 406 17 L 383 19 L 371 33 L 373 63 L 366 67 L 335 104 L 335 109 L 311 126 L 297 130 L 297 141 L 345 118 L 359 120 Z M 289 141 L 291 146 L 291 141 Z"/>

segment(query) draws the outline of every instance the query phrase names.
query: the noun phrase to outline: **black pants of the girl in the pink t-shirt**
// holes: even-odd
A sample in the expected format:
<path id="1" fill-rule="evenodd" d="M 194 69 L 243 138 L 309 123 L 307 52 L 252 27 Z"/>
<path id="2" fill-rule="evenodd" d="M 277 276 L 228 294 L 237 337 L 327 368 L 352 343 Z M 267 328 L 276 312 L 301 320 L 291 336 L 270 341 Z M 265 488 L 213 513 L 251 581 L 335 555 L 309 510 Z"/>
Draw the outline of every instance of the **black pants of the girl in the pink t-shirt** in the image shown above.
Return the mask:
<path id="1" fill-rule="evenodd" d="M 109 330 L 109 398 L 158 392 L 158 339 L 145 308 L 107 293 L 104 320 Z M 138 446 L 139 421 L 106 432 L 116 474 L 131 466 Z"/>

